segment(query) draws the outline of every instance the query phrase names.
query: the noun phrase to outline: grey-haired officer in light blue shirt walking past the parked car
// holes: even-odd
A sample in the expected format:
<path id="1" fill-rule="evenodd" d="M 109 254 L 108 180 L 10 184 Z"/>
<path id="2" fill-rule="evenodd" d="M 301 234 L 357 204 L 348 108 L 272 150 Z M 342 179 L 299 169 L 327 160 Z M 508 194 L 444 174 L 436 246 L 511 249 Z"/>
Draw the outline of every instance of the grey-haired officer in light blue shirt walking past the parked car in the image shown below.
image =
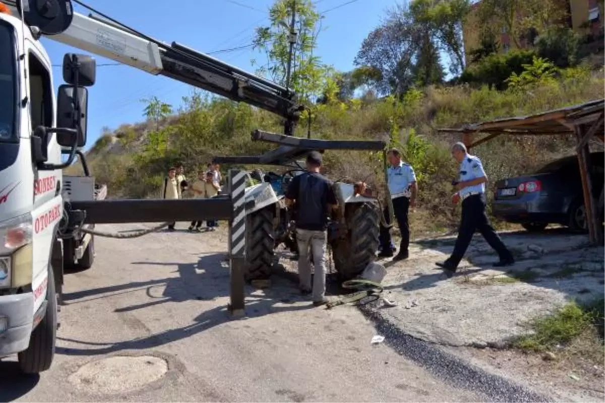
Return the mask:
<path id="1" fill-rule="evenodd" d="M 460 180 L 456 183 L 456 190 L 452 201 L 457 203 L 462 201 L 462 219 L 460 220 L 460 229 L 454 245 L 454 251 L 445 262 L 437 263 L 437 266 L 445 269 L 448 277 L 454 275 L 456 269 L 462 260 L 468 248 L 475 230 L 483 235 L 489 246 L 500 256 L 499 262 L 494 263 L 494 267 L 510 266 L 514 264 L 514 258 L 511 252 L 502 243 L 502 239 L 489 224 L 489 219 L 485 213 L 485 184 L 488 181 L 481 160 L 474 155 L 466 153 L 466 147 L 463 143 L 456 143 L 451 149 L 452 156 L 460 163 Z"/>

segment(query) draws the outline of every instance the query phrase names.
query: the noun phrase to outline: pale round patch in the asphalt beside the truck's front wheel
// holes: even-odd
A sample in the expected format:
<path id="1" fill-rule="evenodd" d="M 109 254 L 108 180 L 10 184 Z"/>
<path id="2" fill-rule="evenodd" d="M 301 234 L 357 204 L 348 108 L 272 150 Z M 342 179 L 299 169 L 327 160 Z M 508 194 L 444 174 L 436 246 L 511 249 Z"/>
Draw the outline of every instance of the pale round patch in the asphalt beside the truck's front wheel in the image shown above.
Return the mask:
<path id="1" fill-rule="evenodd" d="M 80 367 L 68 380 L 93 393 L 125 393 L 162 378 L 168 363 L 154 356 L 113 356 Z"/>

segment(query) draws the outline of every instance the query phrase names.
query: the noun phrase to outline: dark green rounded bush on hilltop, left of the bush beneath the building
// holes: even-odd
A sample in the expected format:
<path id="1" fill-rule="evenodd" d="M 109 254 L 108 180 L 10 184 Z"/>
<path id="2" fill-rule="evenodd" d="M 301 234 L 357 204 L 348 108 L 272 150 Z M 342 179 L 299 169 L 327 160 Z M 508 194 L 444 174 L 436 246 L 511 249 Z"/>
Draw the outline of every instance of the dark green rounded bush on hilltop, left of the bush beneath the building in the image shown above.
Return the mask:
<path id="1" fill-rule="evenodd" d="M 466 69 L 460 81 L 503 90 L 507 88 L 506 79 L 513 73 L 521 74 L 523 65 L 531 64 L 535 53 L 529 50 L 512 50 L 506 54 L 491 54 L 476 65 Z"/>

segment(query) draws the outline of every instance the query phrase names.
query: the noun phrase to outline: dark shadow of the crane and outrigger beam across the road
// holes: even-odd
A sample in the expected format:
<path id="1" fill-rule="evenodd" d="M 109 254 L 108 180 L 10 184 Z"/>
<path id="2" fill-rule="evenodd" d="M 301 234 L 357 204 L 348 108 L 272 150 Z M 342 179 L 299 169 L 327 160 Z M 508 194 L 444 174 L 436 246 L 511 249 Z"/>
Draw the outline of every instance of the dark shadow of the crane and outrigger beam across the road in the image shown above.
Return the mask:
<path id="1" fill-rule="evenodd" d="M 171 262 L 132 262 L 135 265 L 162 265 L 162 266 L 177 266 L 178 277 L 169 277 L 162 280 L 152 280 L 149 282 L 134 282 L 118 286 L 110 286 L 99 289 L 91 289 L 87 291 L 79 291 L 66 294 L 68 301 L 77 303 L 77 298 L 93 297 L 94 295 L 117 292 L 124 293 L 134 291 L 134 289 L 146 289 L 148 300 L 137 304 L 128 305 L 122 308 L 115 309 L 114 312 L 122 314 L 121 320 L 128 321 L 131 317 L 131 312 L 139 309 L 158 306 L 168 301 L 184 302 L 191 300 L 214 300 L 217 297 L 227 297 L 229 295 L 229 268 L 224 266 L 224 254 L 213 253 L 203 254 L 194 263 L 171 263 Z M 162 295 L 152 295 L 152 288 L 159 285 L 165 285 Z M 281 288 L 281 290 L 280 290 Z M 286 312 L 300 311 L 312 308 L 309 302 L 307 305 L 296 304 L 300 301 L 298 295 L 295 295 L 296 289 L 286 289 L 284 287 L 272 286 L 264 293 L 254 293 L 254 289 L 247 287 L 246 289 L 246 317 L 242 320 L 250 320 L 255 317 L 264 315 Z M 262 294 L 262 295 L 256 295 Z M 109 294 L 116 295 L 116 294 Z M 103 298 L 103 297 L 99 297 Z M 90 301 L 94 298 L 88 298 Z M 177 329 L 169 329 L 158 334 L 148 335 L 146 337 L 137 338 L 136 340 L 119 341 L 116 343 L 96 343 L 94 341 L 72 340 L 68 338 L 59 338 L 62 341 L 76 343 L 83 348 L 68 348 L 57 346 L 57 353 L 73 356 L 93 356 L 103 355 L 108 353 L 119 352 L 120 350 L 143 350 L 152 349 L 163 346 L 164 344 L 182 340 L 191 337 L 212 327 L 220 326 L 223 323 L 233 320 L 227 311 L 226 306 L 221 304 L 213 309 L 205 311 L 195 318 L 192 318 L 192 324 L 188 326 L 178 327 Z"/>

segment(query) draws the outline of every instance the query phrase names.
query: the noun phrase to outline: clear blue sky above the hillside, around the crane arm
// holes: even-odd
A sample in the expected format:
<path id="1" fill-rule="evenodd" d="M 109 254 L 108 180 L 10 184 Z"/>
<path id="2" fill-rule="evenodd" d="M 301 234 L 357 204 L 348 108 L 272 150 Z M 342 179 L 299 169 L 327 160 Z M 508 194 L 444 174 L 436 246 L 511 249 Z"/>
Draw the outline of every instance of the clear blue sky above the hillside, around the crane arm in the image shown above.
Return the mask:
<path id="1" fill-rule="evenodd" d="M 350 1 L 350 4 L 345 4 Z M 195 50 L 212 51 L 240 47 L 252 42 L 254 27 L 268 21 L 273 0 L 84 0 L 111 18 L 163 42 L 176 41 Z M 317 0 L 317 10 L 325 13 L 316 53 L 324 63 L 347 71 L 362 40 L 381 22 L 395 0 Z M 75 5 L 76 11 L 88 15 Z M 68 52 L 81 50 L 43 39 L 52 62 L 60 65 Z M 227 63 L 253 71 L 250 60 L 261 55 L 250 49 L 215 54 Z M 113 63 L 96 56 L 97 65 Z M 54 85 L 62 83 L 60 67 L 54 68 Z M 129 66 L 99 66 L 96 84 L 89 89 L 87 149 L 104 126 L 115 129 L 122 123 L 144 120 L 141 98 L 157 96 L 177 107 L 191 86 L 165 77 L 152 76 Z"/>

